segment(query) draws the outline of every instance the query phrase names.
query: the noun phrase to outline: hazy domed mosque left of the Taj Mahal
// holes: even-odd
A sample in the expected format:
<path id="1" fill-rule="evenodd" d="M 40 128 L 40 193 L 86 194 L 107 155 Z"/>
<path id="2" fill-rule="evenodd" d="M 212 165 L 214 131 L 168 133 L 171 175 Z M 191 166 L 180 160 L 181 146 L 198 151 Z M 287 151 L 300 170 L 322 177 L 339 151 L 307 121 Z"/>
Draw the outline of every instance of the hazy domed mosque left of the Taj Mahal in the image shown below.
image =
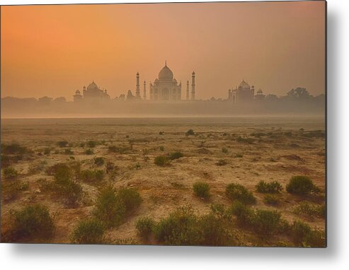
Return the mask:
<path id="1" fill-rule="evenodd" d="M 80 90 L 75 91 L 73 95 L 74 102 L 104 102 L 110 100 L 110 95 L 108 95 L 107 90 L 102 90 L 97 86 L 97 84 L 92 81 L 87 88 L 84 86 L 83 93 L 81 95 Z"/>

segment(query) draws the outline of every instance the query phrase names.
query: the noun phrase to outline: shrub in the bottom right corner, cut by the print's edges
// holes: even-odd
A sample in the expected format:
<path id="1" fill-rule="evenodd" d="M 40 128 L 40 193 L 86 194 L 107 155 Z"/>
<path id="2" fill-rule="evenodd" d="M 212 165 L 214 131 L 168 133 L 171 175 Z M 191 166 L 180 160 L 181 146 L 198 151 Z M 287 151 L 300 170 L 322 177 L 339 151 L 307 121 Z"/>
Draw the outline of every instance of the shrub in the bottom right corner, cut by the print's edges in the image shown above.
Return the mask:
<path id="1" fill-rule="evenodd" d="M 294 221 L 291 227 L 293 242 L 302 247 L 324 247 L 326 245 L 324 231 L 312 229 L 302 221 Z"/>

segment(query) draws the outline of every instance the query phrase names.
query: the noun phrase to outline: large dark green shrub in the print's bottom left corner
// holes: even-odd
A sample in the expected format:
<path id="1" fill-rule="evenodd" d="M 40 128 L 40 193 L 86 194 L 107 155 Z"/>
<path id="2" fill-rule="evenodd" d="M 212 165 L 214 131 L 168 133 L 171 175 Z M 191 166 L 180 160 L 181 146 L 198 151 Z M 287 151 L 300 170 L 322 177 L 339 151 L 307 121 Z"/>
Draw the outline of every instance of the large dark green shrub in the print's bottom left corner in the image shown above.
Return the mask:
<path id="1" fill-rule="evenodd" d="M 9 242 L 47 242 L 54 230 L 54 221 L 47 207 L 34 204 L 14 211 L 7 237 Z"/>

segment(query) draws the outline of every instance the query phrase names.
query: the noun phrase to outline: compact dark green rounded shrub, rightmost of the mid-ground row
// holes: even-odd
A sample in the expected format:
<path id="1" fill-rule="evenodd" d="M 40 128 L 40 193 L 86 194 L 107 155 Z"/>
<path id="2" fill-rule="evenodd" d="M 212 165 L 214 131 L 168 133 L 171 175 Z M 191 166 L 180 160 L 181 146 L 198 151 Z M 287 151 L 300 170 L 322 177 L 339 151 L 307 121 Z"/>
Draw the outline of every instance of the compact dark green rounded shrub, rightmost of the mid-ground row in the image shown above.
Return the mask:
<path id="1" fill-rule="evenodd" d="M 319 192 L 319 188 L 307 176 L 294 176 L 286 186 L 287 192 L 291 194 L 306 196 Z"/>

